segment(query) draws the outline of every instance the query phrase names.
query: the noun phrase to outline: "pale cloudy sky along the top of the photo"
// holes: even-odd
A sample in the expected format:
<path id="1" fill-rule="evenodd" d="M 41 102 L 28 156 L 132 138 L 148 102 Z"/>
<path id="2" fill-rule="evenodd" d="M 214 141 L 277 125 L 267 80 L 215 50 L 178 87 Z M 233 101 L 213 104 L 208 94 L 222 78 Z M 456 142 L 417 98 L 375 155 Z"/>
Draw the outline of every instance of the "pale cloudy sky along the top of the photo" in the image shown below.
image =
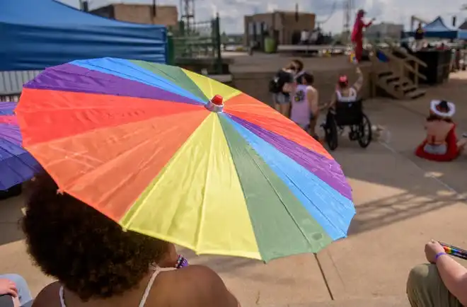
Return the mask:
<path id="1" fill-rule="evenodd" d="M 79 0 L 59 0 L 70 6 L 79 6 Z M 316 13 L 316 20 L 323 22 L 326 32 L 340 33 L 344 20 L 342 3 L 344 0 L 195 0 L 196 21 L 206 21 L 219 12 L 221 30 L 226 33 L 243 33 L 243 16 L 268 11 L 300 11 Z M 446 25 L 451 24 L 452 16 L 457 16 L 459 26 L 467 18 L 467 11 L 461 6 L 467 0 L 353 0 L 355 8 L 364 8 L 368 18 L 376 22 L 403 23 L 408 30 L 410 16 L 415 15 L 427 21 L 442 16 Z M 110 3 L 152 4 L 151 0 L 89 0 L 91 9 Z M 180 0 L 157 0 L 157 4 L 176 5 Z M 352 19 L 354 16 L 352 16 Z"/>

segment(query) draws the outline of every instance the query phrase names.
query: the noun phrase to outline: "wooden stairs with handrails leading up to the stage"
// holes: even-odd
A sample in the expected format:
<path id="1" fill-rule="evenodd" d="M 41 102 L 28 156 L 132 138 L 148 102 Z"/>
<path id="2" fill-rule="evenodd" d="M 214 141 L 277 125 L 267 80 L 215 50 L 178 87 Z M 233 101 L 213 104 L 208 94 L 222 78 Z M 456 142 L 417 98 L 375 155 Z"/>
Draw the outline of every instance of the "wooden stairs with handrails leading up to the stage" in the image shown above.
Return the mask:
<path id="1" fill-rule="evenodd" d="M 376 56 L 380 52 L 386 57 L 383 62 Z M 397 54 L 394 55 L 394 54 Z M 427 78 L 420 74 L 418 67 L 427 66 L 417 57 L 405 54 L 395 48 L 374 50 L 370 55 L 373 64 L 372 91 L 376 95 L 376 89 L 384 91 L 387 95 L 396 99 L 416 99 L 425 95 L 425 90 L 418 87 L 420 79 Z"/>

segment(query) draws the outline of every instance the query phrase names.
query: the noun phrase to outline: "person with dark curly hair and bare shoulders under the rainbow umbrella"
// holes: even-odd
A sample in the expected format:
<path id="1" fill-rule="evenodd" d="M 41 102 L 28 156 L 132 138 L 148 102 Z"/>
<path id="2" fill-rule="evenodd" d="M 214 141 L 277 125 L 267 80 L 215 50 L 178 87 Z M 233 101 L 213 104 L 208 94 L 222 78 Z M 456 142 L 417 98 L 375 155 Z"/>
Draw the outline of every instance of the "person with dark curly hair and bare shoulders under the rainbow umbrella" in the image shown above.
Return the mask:
<path id="1" fill-rule="evenodd" d="M 175 246 L 125 231 L 66 193 L 49 175 L 30 184 L 22 220 L 28 253 L 57 279 L 34 307 L 238 307 L 208 267 L 176 270 Z"/>

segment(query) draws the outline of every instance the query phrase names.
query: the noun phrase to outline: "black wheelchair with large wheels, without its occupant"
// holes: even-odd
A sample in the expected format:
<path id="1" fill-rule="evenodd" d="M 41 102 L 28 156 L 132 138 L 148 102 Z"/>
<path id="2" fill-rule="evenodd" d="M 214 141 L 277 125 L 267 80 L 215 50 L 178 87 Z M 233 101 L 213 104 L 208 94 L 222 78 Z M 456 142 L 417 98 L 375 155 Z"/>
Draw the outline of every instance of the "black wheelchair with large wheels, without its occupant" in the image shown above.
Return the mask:
<path id="1" fill-rule="evenodd" d="M 335 110 L 328 110 L 326 121 L 321 127 L 331 151 L 338 148 L 338 137 L 345 127 L 350 127 L 350 141 L 358 141 L 362 148 L 367 148 L 371 143 L 371 122 L 363 112 L 362 99 L 352 103 L 336 103 Z"/>

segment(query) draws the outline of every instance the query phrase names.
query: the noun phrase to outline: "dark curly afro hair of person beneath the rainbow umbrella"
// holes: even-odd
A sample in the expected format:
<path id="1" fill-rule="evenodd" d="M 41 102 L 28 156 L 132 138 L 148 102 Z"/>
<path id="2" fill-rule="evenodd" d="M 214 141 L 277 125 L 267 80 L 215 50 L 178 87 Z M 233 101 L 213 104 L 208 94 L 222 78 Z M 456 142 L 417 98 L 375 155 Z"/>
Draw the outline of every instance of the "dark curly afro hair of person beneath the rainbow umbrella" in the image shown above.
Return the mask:
<path id="1" fill-rule="evenodd" d="M 60 193 L 49 175 L 30 186 L 22 221 L 28 253 L 45 274 L 88 299 L 138 286 L 168 243 L 122 227 L 78 199 Z"/>

